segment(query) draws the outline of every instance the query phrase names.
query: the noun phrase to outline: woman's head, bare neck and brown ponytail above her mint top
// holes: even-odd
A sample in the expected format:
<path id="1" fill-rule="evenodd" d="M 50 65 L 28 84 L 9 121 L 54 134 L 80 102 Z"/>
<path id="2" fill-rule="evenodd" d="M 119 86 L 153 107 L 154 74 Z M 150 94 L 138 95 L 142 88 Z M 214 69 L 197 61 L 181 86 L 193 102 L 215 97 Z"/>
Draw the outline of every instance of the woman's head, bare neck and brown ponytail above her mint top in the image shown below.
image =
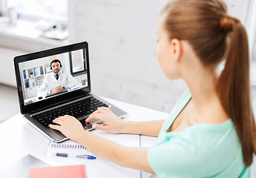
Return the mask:
<path id="1" fill-rule="evenodd" d="M 184 79 L 193 102 L 193 108 L 185 108 L 183 119 L 179 121 L 178 117 L 178 124 L 174 121 L 170 131 L 183 132 L 200 123 L 231 119 L 243 162 L 249 167 L 256 153 L 256 125 L 250 102 L 249 45 L 243 24 L 227 15 L 223 1 L 176 0 L 163 9 L 158 38 L 157 56 L 165 75 Z M 223 60 L 225 67 L 217 75 L 215 70 Z"/>

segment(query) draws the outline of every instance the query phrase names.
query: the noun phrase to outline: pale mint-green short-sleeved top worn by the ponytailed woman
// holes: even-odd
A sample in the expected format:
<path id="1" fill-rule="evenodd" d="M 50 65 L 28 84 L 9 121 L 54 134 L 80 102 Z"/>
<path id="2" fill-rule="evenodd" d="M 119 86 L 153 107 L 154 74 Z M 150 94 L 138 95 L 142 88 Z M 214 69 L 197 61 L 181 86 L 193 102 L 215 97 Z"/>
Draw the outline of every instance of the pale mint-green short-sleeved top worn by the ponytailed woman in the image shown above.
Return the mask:
<path id="1" fill-rule="evenodd" d="M 197 124 L 180 132 L 168 132 L 190 99 L 191 93 L 186 90 L 148 151 L 149 165 L 157 177 L 250 177 L 231 119 L 222 124 Z"/>

